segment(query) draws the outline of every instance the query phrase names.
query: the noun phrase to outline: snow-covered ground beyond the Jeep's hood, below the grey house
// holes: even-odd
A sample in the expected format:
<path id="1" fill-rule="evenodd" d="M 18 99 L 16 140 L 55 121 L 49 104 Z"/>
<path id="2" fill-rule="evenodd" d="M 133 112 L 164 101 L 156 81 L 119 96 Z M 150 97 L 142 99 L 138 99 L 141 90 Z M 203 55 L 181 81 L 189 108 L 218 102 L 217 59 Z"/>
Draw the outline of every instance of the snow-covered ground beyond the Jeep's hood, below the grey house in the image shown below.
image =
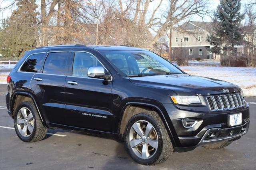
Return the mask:
<path id="1" fill-rule="evenodd" d="M 182 66 L 180 69 L 191 75 L 228 81 L 239 85 L 243 89 L 244 96 L 256 96 L 255 67 Z"/>

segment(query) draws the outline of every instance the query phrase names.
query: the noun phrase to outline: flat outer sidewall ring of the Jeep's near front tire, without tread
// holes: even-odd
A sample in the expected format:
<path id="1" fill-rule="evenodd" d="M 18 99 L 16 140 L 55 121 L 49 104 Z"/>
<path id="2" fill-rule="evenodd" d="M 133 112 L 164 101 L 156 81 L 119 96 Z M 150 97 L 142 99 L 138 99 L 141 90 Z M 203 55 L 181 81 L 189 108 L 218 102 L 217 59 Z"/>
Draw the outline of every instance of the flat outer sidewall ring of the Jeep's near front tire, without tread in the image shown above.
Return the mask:
<path id="1" fill-rule="evenodd" d="M 158 148 L 156 150 L 156 153 L 148 159 L 142 159 L 139 158 L 138 156 L 136 156 L 136 154 L 133 152 L 131 146 L 130 146 L 130 140 L 129 140 L 129 133 L 130 133 L 130 129 L 132 128 L 132 125 L 140 120 L 144 120 L 144 121 L 148 121 L 149 123 L 151 123 L 153 125 L 153 127 L 156 129 L 156 133 L 158 135 Z M 126 125 L 126 130 L 125 130 L 125 143 L 126 143 L 126 150 L 128 151 L 128 153 L 130 154 L 130 156 L 132 157 L 132 159 L 140 164 L 144 164 L 144 165 L 149 165 L 149 164 L 153 164 L 154 162 L 156 162 L 156 160 L 158 160 L 160 154 L 162 153 L 162 148 L 163 148 L 163 137 L 162 137 L 162 131 L 160 129 L 160 127 L 158 126 L 158 124 L 156 123 L 156 121 L 150 117 L 149 115 L 147 115 L 146 113 L 139 113 L 137 115 L 134 115 L 127 123 Z"/>

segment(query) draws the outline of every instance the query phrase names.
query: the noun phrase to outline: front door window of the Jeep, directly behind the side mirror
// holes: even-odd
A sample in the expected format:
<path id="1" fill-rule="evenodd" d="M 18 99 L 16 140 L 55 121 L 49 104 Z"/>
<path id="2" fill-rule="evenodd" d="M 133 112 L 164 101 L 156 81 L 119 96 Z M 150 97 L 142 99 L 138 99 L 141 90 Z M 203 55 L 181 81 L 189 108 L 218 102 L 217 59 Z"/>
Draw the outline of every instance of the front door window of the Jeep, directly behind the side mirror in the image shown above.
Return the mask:
<path id="1" fill-rule="evenodd" d="M 76 52 L 74 56 L 72 75 L 76 77 L 87 77 L 90 67 L 103 67 L 100 61 L 90 53 Z"/>

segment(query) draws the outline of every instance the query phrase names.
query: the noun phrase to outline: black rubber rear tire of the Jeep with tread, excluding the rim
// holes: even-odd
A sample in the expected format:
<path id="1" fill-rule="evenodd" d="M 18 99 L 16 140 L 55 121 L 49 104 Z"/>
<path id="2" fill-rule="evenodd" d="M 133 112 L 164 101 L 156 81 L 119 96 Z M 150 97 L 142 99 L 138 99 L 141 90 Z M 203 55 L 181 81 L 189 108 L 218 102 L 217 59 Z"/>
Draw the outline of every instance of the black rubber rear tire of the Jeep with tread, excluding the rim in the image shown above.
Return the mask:
<path id="1" fill-rule="evenodd" d="M 22 134 L 20 134 L 17 127 L 17 115 L 22 107 L 28 108 L 31 111 L 34 119 L 34 128 L 32 133 L 28 137 L 22 136 Z M 42 140 L 45 137 L 47 132 L 47 128 L 44 127 L 42 121 L 40 120 L 39 114 L 32 101 L 22 102 L 16 107 L 14 111 L 14 128 L 20 140 L 24 142 L 36 142 L 36 141 Z"/>

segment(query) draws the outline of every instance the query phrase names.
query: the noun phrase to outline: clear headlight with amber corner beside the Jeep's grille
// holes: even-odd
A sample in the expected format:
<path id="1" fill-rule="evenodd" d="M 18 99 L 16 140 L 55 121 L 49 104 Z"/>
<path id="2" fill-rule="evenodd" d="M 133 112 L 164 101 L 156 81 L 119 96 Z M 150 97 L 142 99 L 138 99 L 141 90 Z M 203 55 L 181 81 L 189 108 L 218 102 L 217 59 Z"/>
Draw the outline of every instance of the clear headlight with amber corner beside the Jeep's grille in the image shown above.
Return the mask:
<path id="1" fill-rule="evenodd" d="M 201 105 L 201 101 L 198 96 L 171 96 L 174 104 L 179 105 Z"/>

